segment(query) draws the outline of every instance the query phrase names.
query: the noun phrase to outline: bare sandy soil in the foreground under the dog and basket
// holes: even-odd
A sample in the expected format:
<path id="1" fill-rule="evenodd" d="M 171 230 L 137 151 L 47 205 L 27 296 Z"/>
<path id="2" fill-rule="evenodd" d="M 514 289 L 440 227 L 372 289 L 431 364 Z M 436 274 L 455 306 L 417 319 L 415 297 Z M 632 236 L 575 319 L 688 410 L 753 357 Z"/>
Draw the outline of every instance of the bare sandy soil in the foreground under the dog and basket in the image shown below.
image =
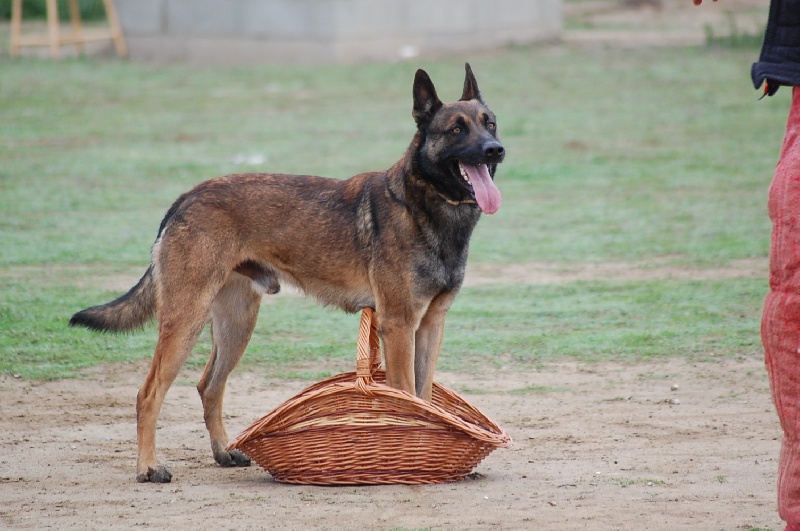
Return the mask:
<path id="1" fill-rule="evenodd" d="M 138 484 L 134 403 L 145 372 L 118 364 L 83 380 L 0 381 L 0 527 L 780 527 L 780 429 L 760 359 L 440 374 L 514 446 L 436 486 L 293 486 L 255 465 L 220 468 L 188 384 L 171 389 L 158 432 L 175 479 Z M 231 435 L 303 386 L 235 373 Z"/>

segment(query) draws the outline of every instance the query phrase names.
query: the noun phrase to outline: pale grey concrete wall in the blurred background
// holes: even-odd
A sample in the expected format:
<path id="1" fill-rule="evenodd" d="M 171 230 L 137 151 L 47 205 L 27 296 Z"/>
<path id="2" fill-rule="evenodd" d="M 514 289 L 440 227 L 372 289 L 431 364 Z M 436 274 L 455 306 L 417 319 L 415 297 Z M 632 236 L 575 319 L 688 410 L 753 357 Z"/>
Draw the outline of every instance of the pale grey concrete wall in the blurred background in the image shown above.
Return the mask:
<path id="1" fill-rule="evenodd" d="M 394 60 L 558 36 L 562 0 L 116 0 L 131 56 L 286 64 Z"/>

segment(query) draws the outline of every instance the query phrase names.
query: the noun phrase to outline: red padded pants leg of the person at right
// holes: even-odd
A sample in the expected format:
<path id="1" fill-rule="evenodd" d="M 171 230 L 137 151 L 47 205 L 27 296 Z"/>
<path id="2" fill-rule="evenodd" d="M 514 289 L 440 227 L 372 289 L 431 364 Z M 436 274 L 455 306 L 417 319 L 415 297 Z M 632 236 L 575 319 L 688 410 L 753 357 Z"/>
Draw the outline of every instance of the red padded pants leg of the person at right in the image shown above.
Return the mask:
<path id="1" fill-rule="evenodd" d="M 800 530 L 800 87 L 792 93 L 780 159 L 769 190 L 769 286 L 761 341 L 783 441 L 778 512 Z"/>

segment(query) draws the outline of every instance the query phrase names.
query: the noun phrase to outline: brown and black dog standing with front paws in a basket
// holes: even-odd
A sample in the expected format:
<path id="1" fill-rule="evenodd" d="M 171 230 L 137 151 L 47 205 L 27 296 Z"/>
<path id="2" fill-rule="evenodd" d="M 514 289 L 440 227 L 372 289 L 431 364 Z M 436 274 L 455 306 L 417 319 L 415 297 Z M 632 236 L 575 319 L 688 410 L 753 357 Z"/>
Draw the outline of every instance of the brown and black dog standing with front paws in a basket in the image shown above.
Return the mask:
<path id="1" fill-rule="evenodd" d="M 172 478 L 156 460 L 156 423 L 209 319 L 213 347 L 197 389 L 211 449 L 222 466 L 250 464 L 225 449 L 222 399 L 262 295 L 281 282 L 348 312 L 375 308 L 387 383 L 430 400 L 472 230 L 481 211 L 500 208 L 493 176 L 505 151 L 469 64 L 461 100 L 443 104 L 423 70 L 413 95 L 417 133 L 390 169 L 348 180 L 241 174 L 201 183 L 167 212 L 139 283 L 72 317 L 70 325 L 114 332 L 158 318 L 136 402 L 138 481 Z"/>

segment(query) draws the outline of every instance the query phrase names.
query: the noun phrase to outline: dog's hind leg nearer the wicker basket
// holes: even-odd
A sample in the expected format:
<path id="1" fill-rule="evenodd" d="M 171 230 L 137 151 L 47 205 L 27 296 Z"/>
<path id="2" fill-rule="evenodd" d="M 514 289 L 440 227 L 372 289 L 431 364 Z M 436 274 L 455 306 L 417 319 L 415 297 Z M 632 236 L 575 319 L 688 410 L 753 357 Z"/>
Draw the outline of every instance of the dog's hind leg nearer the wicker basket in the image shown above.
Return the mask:
<path id="1" fill-rule="evenodd" d="M 214 460 L 221 466 L 249 466 L 250 458 L 238 450 L 228 452 L 228 434 L 222 420 L 222 402 L 228 375 L 244 354 L 258 318 L 261 293 L 253 282 L 232 273 L 211 305 L 213 347 L 197 384 L 203 416 L 211 438 Z"/>

